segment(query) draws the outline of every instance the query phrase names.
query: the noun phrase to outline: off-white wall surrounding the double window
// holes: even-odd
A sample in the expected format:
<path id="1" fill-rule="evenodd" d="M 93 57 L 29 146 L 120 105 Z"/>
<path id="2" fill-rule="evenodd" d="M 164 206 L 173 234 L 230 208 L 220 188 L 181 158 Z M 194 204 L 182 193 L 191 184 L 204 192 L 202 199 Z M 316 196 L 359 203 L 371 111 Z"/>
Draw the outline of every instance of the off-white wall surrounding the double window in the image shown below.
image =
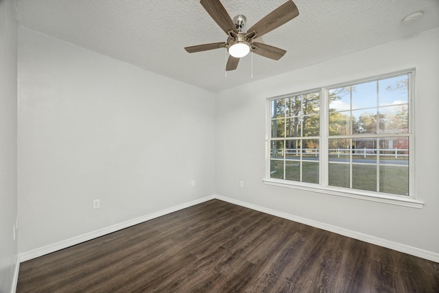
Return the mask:
<path id="1" fill-rule="evenodd" d="M 217 194 L 439 253 L 439 152 L 431 152 L 439 146 L 438 52 L 439 30 L 433 30 L 220 93 Z M 425 201 L 423 209 L 262 183 L 266 98 L 412 67 L 416 67 L 416 196 Z M 240 180 L 244 187 L 239 187 Z"/>

